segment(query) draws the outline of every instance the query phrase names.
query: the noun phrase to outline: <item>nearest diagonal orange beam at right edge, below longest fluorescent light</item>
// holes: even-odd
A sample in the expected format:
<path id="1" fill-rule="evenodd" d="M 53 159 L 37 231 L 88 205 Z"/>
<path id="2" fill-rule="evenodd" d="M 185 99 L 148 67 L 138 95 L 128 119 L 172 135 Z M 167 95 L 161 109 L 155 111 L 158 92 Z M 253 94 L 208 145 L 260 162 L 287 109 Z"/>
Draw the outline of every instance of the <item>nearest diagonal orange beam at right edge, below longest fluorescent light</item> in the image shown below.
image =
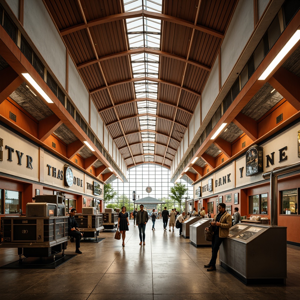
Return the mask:
<path id="1" fill-rule="evenodd" d="M 300 78 L 280 67 L 268 82 L 280 93 L 296 110 L 300 110 Z"/>

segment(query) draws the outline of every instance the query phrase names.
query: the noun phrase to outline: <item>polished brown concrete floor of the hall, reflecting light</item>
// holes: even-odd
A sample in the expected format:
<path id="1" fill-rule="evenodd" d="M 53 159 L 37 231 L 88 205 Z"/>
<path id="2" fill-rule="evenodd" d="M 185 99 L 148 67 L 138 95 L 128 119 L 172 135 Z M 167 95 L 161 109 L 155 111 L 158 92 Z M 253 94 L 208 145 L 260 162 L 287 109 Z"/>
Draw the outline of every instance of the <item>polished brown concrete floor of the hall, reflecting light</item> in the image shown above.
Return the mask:
<path id="1" fill-rule="evenodd" d="M 101 232 L 99 243 L 82 243 L 82 254 L 53 269 L 0 269 L 0 299 L 72 300 L 241 300 L 299 299 L 300 249 L 287 246 L 285 286 L 246 286 L 222 267 L 207 272 L 211 248 L 196 248 L 179 237 L 179 229 L 163 230 L 157 220 L 146 226 L 146 245 L 140 246 L 139 231 L 130 220 L 125 247 L 114 232 Z M 169 229 L 169 228 L 168 228 Z M 270 245 L 270 251 L 276 244 Z M 74 253 L 69 243 L 66 254 Z M 259 249 L 258 249 L 259 251 Z M 0 266 L 18 259 L 14 248 L 0 248 Z M 256 264 L 264 268 L 268 253 Z M 218 262 L 218 261 L 217 261 Z M 276 265 L 276 261 L 274 261 Z"/>

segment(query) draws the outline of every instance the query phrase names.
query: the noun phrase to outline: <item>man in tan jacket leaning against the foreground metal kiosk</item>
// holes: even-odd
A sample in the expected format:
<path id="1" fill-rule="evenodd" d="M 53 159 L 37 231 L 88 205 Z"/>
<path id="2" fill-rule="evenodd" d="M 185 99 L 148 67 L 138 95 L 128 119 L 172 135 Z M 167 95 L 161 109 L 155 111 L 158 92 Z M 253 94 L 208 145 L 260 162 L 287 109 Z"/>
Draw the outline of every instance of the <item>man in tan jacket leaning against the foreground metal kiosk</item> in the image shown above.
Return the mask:
<path id="1" fill-rule="evenodd" d="M 226 204 L 220 203 L 218 206 L 219 213 L 214 216 L 211 225 L 214 226 L 214 234 L 211 241 L 211 260 L 209 264 L 204 265 L 208 268 L 207 271 L 214 271 L 216 269 L 216 260 L 220 245 L 223 240 L 229 235 L 229 228 L 231 227 L 231 215 L 225 210 Z"/>

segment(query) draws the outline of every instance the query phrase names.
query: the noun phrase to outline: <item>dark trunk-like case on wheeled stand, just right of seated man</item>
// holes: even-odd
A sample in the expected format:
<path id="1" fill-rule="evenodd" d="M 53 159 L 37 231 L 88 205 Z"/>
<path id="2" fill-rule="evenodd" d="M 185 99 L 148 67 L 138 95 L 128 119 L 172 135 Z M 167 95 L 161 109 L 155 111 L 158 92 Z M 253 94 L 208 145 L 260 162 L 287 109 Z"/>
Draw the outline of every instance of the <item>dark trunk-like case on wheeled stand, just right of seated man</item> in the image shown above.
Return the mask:
<path id="1" fill-rule="evenodd" d="M 76 222 L 78 223 L 79 229 L 83 232 L 83 238 L 96 238 L 103 227 L 102 214 L 76 214 Z"/>

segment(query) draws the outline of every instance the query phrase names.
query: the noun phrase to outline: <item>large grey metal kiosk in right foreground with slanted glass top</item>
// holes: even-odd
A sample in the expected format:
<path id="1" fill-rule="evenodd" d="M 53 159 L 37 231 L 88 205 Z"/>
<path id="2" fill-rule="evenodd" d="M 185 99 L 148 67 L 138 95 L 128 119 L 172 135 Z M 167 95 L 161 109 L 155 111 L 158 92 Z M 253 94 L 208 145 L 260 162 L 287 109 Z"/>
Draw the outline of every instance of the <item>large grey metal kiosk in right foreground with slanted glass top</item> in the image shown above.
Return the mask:
<path id="1" fill-rule="evenodd" d="M 245 284 L 285 284 L 286 227 L 238 223 L 221 244 L 219 258 Z"/>

